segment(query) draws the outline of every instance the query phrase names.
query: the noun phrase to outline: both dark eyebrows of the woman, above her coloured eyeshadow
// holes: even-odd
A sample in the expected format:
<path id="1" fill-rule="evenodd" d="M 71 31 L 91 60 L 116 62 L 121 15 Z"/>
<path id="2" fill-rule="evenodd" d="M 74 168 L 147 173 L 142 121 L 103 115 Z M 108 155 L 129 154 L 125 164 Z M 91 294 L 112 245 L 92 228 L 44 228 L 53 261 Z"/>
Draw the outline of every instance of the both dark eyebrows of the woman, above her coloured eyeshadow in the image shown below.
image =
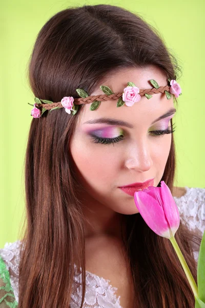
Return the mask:
<path id="1" fill-rule="evenodd" d="M 169 115 L 174 114 L 175 112 L 176 112 L 176 109 L 171 108 L 166 113 L 160 115 L 160 117 L 157 118 L 156 120 L 154 120 L 151 124 L 154 124 L 155 122 L 157 122 L 161 119 L 165 119 L 165 118 L 169 117 Z M 110 125 L 120 125 L 120 126 L 126 126 L 128 128 L 134 128 L 134 126 L 132 124 L 130 124 L 129 122 L 125 122 L 125 121 L 122 121 L 122 120 L 109 119 L 109 118 L 93 119 L 93 120 L 89 120 L 89 121 L 85 122 L 84 124 L 96 124 L 96 123 L 110 124 Z"/>

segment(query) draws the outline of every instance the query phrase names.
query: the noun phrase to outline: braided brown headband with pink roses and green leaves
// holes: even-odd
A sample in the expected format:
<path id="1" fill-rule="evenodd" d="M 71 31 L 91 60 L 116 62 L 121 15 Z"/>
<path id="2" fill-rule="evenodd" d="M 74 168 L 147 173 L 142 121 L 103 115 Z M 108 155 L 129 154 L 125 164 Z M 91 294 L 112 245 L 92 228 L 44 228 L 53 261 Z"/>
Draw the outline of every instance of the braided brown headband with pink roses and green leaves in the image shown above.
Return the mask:
<path id="1" fill-rule="evenodd" d="M 124 89 L 124 92 L 113 93 L 109 87 L 100 86 L 100 89 L 105 94 L 89 96 L 84 89 L 78 88 L 76 89 L 76 91 L 80 98 L 77 99 L 74 99 L 73 97 L 64 97 L 60 102 L 53 103 L 51 101 L 34 98 L 35 104 L 28 104 L 34 106 L 34 108 L 31 110 L 31 115 L 33 116 L 33 118 L 40 118 L 46 110 L 49 110 L 50 112 L 51 110 L 63 107 L 65 108 L 65 111 L 67 113 L 72 113 L 72 115 L 74 115 L 78 110 L 78 105 L 81 104 L 92 103 L 90 106 L 90 110 L 96 110 L 99 107 L 101 101 L 107 101 L 110 99 L 118 100 L 117 107 L 121 107 L 124 104 L 130 107 L 134 103 L 138 102 L 141 99 L 142 95 L 145 95 L 146 98 L 149 100 L 152 98 L 152 94 L 165 92 L 166 97 L 169 100 L 172 97 L 170 93 L 172 93 L 176 98 L 178 98 L 179 95 L 182 94 L 181 88 L 175 80 L 168 79 L 170 85 L 161 87 L 159 87 L 158 83 L 154 79 L 151 79 L 150 82 L 154 86 L 154 88 L 152 89 L 139 89 L 133 82 L 128 82 L 127 87 Z"/>

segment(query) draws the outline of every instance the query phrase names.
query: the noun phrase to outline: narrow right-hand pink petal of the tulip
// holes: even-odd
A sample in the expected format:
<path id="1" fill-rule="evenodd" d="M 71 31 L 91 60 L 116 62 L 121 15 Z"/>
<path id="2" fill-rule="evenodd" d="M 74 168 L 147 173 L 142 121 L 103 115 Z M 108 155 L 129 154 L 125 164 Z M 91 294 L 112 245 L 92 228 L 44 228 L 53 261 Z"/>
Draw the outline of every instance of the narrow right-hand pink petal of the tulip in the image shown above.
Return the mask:
<path id="1" fill-rule="evenodd" d="M 165 217 L 168 221 L 169 227 L 171 228 L 172 236 L 174 236 L 180 224 L 179 210 L 169 187 L 164 181 L 161 181 L 161 195 Z"/>

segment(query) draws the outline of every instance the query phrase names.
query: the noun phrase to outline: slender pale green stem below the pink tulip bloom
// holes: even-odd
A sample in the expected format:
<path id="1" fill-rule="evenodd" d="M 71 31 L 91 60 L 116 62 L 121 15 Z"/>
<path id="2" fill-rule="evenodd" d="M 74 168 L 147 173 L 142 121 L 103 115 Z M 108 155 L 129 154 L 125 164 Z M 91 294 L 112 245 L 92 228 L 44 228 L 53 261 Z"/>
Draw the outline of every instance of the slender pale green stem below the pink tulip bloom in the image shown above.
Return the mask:
<path id="1" fill-rule="evenodd" d="M 192 288 L 192 291 L 194 293 L 194 296 L 198 297 L 198 287 L 197 287 L 196 282 L 195 282 L 195 280 L 194 280 L 194 278 L 192 276 L 192 273 L 190 272 L 189 266 L 188 266 L 185 258 L 183 257 L 183 255 L 181 253 L 181 250 L 180 250 L 180 248 L 179 248 L 179 246 L 178 246 L 178 244 L 177 244 L 177 242 L 175 240 L 175 237 L 173 236 L 173 237 L 171 237 L 169 239 L 170 239 L 170 241 L 172 243 L 172 246 L 175 249 L 175 252 L 176 252 L 176 254 L 177 254 L 178 258 L 179 258 L 181 266 L 183 267 L 183 270 L 185 271 L 185 274 L 186 274 L 187 279 L 188 279 L 188 281 L 189 281 L 189 283 L 191 285 L 191 288 Z"/>

